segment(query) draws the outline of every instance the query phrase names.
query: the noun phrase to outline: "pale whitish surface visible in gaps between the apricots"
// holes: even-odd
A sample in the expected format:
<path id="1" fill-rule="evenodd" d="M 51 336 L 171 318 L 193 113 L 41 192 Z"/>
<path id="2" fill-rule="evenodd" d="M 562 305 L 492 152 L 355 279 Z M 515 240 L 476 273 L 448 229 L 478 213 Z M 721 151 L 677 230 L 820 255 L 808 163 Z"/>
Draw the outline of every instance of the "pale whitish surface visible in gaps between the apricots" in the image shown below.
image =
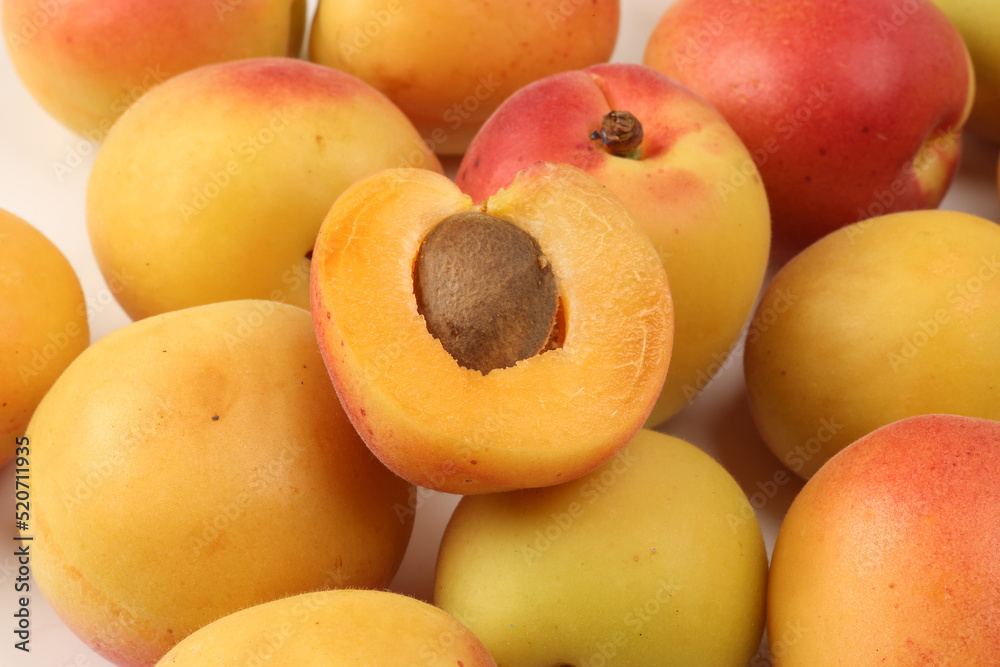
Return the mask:
<path id="1" fill-rule="evenodd" d="M 622 23 L 613 60 L 640 63 L 646 41 L 670 0 L 622 0 Z M 315 0 L 309 2 L 310 13 Z M 83 285 L 88 304 L 96 311 L 90 321 L 95 342 L 129 323 L 110 298 L 87 239 L 84 193 L 97 147 L 51 119 L 29 96 L 11 66 L 6 50 L 0 54 L 0 208 L 33 224 L 69 259 Z M 966 136 L 965 154 L 956 182 L 942 208 L 968 211 L 1000 221 L 997 197 L 997 148 Z M 61 178 L 53 165 L 71 154 L 83 155 L 79 166 Z M 457 160 L 445 162 L 454 174 Z M 772 268 L 773 272 L 773 268 Z M 0 323 L 0 327 L 3 323 Z M 739 349 L 739 348 L 738 348 Z M 758 518 L 768 554 L 788 505 L 801 482 L 764 446 L 756 434 L 746 404 L 742 360 L 735 358 L 702 396 L 660 430 L 684 438 L 715 457 L 737 479 L 748 496 L 785 472 L 791 481 L 767 498 Z M 13 466 L 0 470 L 0 525 L 16 534 L 13 514 Z M 785 479 L 780 474 L 779 479 Z M 765 499 L 758 495 L 755 500 Z M 429 599 L 438 542 L 456 496 L 432 493 L 417 515 L 414 537 L 392 589 Z M 197 502 L 196 498 L 192 498 Z M 95 539 L 100 539 L 95 535 Z M 0 545 L 3 543 L 0 542 Z M 32 581 L 30 655 L 13 648 L 16 610 L 15 542 L 0 546 L 0 665 L 7 667 L 89 667 L 111 663 L 91 652 L 54 615 Z M 763 664 L 763 663 L 760 663 Z"/>

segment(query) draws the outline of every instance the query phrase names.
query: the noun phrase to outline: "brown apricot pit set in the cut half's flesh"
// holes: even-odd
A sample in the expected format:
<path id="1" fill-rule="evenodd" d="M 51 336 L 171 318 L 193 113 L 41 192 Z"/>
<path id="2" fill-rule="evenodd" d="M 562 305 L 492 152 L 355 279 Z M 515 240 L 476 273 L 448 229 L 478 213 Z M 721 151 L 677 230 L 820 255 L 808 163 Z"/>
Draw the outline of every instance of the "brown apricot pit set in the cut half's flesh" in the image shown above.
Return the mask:
<path id="1" fill-rule="evenodd" d="M 413 271 L 417 311 L 459 365 L 483 375 L 539 354 L 554 340 L 559 293 L 538 241 L 480 211 L 428 232 Z"/>

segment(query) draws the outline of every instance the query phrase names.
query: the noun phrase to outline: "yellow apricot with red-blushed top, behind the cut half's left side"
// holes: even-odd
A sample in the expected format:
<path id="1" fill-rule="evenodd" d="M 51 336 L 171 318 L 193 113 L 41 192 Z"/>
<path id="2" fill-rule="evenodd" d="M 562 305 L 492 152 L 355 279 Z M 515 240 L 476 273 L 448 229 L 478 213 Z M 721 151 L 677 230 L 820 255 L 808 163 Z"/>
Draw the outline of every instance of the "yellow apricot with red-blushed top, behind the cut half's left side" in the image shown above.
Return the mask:
<path id="1" fill-rule="evenodd" d="M 352 182 L 441 170 L 413 125 L 352 76 L 290 58 L 202 67 L 115 124 L 87 184 L 87 228 L 133 319 L 232 299 L 309 307 L 309 254 Z"/>

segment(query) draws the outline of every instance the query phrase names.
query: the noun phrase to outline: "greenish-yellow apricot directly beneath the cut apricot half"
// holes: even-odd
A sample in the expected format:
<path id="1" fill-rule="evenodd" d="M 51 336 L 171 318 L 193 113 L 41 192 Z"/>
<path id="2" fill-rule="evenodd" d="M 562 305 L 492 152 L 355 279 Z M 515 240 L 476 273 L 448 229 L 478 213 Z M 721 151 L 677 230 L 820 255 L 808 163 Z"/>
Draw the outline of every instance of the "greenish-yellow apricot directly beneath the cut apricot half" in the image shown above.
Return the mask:
<path id="1" fill-rule="evenodd" d="M 573 482 L 463 498 L 434 602 L 505 667 L 747 665 L 766 581 L 736 481 L 694 445 L 643 430 Z"/>

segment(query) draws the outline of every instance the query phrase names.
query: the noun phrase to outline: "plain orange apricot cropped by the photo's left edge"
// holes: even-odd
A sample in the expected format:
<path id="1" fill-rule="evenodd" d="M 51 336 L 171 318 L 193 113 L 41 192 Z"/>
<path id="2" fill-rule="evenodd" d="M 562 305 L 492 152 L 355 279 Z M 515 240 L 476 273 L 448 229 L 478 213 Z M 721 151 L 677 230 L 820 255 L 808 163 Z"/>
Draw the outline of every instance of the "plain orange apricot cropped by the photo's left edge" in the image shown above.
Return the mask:
<path id="1" fill-rule="evenodd" d="M 0 209 L 0 466 L 45 392 L 90 344 L 73 267 L 21 218 Z"/>

